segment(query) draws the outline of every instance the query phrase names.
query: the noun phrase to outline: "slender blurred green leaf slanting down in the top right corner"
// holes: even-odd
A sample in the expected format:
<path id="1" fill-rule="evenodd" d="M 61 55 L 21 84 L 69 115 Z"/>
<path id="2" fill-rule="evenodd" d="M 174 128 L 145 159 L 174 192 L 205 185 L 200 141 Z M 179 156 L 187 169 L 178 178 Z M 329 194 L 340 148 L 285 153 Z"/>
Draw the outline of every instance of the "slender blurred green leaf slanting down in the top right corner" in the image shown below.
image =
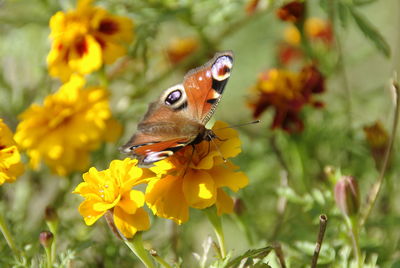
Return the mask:
<path id="1" fill-rule="evenodd" d="M 358 28 L 364 33 L 364 35 L 372 41 L 375 47 L 386 57 L 390 56 L 390 47 L 386 42 L 384 37 L 378 32 L 378 30 L 372 25 L 367 18 L 364 17 L 361 13 L 359 13 L 354 7 L 348 5 L 351 15 L 356 21 Z"/>

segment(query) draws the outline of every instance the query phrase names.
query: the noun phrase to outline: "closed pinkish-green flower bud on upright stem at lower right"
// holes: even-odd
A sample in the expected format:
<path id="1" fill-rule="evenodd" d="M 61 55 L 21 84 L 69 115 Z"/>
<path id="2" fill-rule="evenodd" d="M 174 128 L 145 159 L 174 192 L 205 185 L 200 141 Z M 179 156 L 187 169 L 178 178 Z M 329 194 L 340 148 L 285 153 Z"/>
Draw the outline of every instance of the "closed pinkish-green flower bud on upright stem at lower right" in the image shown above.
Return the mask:
<path id="1" fill-rule="evenodd" d="M 353 216 L 360 208 L 360 192 L 357 181 L 351 176 L 342 176 L 335 185 L 336 204 L 346 216 Z"/>

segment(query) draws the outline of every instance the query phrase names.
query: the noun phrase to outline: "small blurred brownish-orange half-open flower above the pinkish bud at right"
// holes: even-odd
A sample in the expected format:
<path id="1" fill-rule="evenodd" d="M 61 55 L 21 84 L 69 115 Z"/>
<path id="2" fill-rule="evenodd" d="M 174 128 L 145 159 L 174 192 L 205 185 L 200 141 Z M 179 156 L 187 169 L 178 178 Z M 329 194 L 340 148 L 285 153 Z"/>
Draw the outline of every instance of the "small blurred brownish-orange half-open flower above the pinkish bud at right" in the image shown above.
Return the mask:
<path id="1" fill-rule="evenodd" d="M 377 167 L 380 168 L 386 149 L 389 146 L 389 134 L 380 121 L 365 126 L 364 134 L 371 149 L 372 157 L 374 158 Z"/>

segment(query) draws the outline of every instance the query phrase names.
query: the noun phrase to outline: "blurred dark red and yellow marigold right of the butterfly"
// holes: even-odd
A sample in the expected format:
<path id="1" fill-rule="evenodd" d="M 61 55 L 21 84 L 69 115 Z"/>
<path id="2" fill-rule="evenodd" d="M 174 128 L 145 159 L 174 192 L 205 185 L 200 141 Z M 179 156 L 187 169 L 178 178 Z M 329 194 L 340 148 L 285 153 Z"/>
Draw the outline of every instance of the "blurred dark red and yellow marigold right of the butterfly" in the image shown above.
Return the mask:
<path id="1" fill-rule="evenodd" d="M 298 132 L 303 129 L 302 108 L 307 104 L 323 106 L 313 95 L 324 90 L 324 78 L 315 66 L 304 67 L 300 72 L 271 69 L 260 74 L 249 104 L 255 118 L 269 107 L 275 110 L 272 128 Z"/>

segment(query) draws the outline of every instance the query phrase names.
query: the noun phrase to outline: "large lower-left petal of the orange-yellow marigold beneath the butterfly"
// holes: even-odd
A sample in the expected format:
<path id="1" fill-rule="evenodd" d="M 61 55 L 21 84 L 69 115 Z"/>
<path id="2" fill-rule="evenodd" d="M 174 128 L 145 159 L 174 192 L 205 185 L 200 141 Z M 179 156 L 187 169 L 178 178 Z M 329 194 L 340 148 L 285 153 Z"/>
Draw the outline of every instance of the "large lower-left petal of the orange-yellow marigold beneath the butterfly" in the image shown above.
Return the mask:
<path id="1" fill-rule="evenodd" d="M 189 207 L 182 190 L 182 178 L 167 175 L 152 180 L 146 189 L 146 203 L 159 217 L 181 224 L 189 219 Z"/>

